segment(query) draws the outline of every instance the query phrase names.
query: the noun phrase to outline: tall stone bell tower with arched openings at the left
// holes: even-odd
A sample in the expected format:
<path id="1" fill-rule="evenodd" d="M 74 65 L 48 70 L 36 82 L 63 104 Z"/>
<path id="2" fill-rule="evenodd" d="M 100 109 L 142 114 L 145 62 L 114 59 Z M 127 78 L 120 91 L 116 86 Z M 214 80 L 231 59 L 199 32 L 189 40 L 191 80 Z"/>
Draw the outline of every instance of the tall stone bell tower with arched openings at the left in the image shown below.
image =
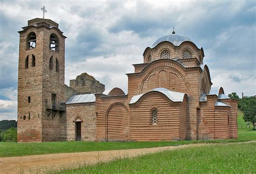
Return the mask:
<path id="1" fill-rule="evenodd" d="M 18 31 L 18 142 L 65 140 L 65 36 L 50 19 Z"/>

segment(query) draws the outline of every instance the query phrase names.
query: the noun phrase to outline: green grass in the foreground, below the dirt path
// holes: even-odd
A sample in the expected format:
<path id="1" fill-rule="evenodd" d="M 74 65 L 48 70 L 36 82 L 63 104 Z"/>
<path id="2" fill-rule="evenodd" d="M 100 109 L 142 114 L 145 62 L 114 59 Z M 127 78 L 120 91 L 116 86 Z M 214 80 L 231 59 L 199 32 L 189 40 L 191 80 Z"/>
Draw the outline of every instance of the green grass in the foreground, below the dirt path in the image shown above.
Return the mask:
<path id="1" fill-rule="evenodd" d="M 61 173 L 251 173 L 256 171 L 256 143 L 214 144 L 164 151 Z"/>

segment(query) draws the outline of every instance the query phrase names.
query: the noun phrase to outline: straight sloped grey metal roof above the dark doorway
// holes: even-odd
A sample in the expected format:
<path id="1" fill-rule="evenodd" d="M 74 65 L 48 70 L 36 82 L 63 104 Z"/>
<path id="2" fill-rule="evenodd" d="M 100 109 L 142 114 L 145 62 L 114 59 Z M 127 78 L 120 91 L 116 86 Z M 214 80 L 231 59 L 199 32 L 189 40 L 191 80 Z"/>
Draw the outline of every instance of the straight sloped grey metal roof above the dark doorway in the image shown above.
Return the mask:
<path id="1" fill-rule="evenodd" d="M 72 95 L 66 104 L 95 102 L 94 94 Z"/>

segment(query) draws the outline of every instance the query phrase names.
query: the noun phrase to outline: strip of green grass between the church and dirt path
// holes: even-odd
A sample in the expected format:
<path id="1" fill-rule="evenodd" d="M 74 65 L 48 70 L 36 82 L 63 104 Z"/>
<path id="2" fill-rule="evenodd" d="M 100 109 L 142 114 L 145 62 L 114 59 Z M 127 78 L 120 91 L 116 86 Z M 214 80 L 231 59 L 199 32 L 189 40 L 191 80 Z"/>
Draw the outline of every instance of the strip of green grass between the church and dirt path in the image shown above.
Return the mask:
<path id="1" fill-rule="evenodd" d="M 238 115 L 238 124 L 245 124 Z M 256 131 L 251 128 L 238 129 L 237 140 L 214 140 L 214 141 L 178 141 L 178 142 L 46 142 L 46 143 L 12 143 L 0 142 L 0 157 L 56 154 L 66 152 L 84 152 L 99 150 L 120 150 L 134 148 L 150 148 L 167 145 L 181 145 L 191 143 L 227 143 L 256 140 Z"/>

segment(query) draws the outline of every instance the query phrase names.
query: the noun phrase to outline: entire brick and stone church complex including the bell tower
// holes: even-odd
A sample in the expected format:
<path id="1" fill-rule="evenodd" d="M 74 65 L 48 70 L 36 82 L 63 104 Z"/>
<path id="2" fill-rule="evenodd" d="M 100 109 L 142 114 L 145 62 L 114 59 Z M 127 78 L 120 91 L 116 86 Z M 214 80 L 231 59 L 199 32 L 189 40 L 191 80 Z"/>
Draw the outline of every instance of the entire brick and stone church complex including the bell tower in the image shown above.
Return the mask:
<path id="1" fill-rule="evenodd" d="M 65 36 L 50 19 L 19 31 L 18 142 L 237 138 L 238 100 L 213 87 L 204 50 L 173 32 L 126 74 L 128 93 L 83 73 L 64 84 Z"/>

